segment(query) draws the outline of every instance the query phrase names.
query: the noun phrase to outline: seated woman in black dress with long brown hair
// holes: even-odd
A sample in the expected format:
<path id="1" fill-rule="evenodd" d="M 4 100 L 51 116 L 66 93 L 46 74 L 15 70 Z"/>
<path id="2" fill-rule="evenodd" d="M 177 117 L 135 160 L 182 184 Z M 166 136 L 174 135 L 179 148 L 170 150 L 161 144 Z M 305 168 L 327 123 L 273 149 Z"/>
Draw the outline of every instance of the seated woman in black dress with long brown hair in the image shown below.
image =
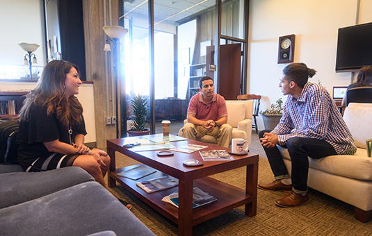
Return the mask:
<path id="1" fill-rule="evenodd" d="M 86 126 L 79 94 L 80 70 L 63 60 L 49 62 L 19 113 L 18 162 L 25 171 L 77 166 L 106 187 L 110 157 L 84 143 Z"/>

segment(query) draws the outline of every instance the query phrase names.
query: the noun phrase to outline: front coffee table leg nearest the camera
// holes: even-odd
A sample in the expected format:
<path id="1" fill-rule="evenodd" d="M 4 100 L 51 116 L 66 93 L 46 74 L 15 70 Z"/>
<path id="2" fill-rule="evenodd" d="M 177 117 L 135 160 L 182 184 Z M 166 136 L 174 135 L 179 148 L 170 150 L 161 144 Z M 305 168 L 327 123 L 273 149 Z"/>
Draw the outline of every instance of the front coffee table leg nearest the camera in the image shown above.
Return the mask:
<path id="1" fill-rule="evenodd" d="M 193 181 L 179 181 L 178 235 L 193 235 Z"/>

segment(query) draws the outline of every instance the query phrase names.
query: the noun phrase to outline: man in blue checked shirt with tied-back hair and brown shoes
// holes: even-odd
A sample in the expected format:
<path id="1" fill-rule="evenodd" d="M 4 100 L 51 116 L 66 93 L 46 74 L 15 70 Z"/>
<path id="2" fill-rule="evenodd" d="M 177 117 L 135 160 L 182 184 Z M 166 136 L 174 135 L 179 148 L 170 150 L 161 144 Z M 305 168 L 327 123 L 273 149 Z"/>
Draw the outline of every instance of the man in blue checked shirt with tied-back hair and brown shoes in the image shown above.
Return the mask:
<path id="1" fill-rule="evenodd" d="M 336 104 L 321 85 L 308 83 L 316 74 L 304 63 L 293 63 L 283 69 L 279 87 L 289 95 L 283 116 L 274 130 L 262 130 L 260 141 L 275 181 L 259 184 L 260 189 L 291 191 L 276 201 L 282 207 L 296 207 L 309 201 L 307 174 L 310 158 L 328 155 L 353 155 L 357 146 Z M 288 149 L 292 162 L 289 176 L 277 145 Z"/>

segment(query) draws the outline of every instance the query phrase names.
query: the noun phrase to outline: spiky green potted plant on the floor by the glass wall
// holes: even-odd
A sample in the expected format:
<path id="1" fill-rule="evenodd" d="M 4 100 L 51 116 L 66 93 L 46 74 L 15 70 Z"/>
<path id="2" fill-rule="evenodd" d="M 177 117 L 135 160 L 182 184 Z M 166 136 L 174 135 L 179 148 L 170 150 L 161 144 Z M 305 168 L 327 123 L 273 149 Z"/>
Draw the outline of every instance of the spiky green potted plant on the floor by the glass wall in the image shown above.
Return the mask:
<path id="1" fill-rule="evenodd" d="M 129 136 L 149 135 L 150 130 L 147 125 L 147 100 L 145 96 L 138 94 L 131 99 L 133 122 L 128 130 Z"/>

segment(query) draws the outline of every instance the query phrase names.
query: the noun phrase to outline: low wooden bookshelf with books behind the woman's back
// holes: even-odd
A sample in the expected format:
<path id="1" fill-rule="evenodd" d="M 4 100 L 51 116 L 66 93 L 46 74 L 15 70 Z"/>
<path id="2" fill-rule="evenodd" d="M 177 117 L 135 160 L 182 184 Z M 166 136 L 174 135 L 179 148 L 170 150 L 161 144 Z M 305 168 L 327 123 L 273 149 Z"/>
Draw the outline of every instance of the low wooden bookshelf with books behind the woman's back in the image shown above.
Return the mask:
<path id="1" fill-rule="evenodd" d="M 22 103 L 29 91 L 0 92 L 0 117 L 15 117 L 22 108 Z"/>

